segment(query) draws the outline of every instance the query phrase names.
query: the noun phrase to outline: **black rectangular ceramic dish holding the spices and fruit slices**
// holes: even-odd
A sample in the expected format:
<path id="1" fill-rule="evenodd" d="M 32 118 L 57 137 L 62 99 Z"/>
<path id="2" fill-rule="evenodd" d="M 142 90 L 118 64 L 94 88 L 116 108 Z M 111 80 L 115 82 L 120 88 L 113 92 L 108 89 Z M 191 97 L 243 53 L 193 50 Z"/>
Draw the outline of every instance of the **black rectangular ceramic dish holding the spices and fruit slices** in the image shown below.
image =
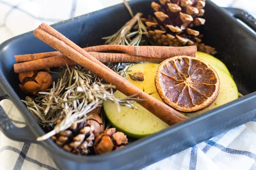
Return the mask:
<path id="1" fill-rule="evenodd" d="M 143 12 L 147 16 L 153 12 L 150 3 L 151 0 L 134 0 L 129 4 L 134 13 Z M 16 128 L 1 108 L 1 130 L 13 140 L 41 144 L 60 169 L 139 169 L 256 118 L 256 35 L 236 18 L 256 30 L 255 19 L 243 11 L 229 10 L 232 15 L 208 0 L 204 15 L 206 24 L 201 32 L 204 34 L 204 43 L 216 47 L 216 56 L 228 66 L 239 91 L 246 96 L 132 142 L 122 150 L 100 156 L 77 156 L 60 149 L 51 139 L 35 141 L 44 131 L 20 101 L 24 94 L 18 87 L 18 74 L 13 72 L 13 55 L 53 49 L 29 32 L 5 41 L 0 46 L 1 99 L 12 100 L 28 125 Z M 79 46 L 85 47 L 102 44 L 101 37 L 116 32 L 129 18 L 124 5 L 118 4 L 54 24 L 53 27 Z"/>

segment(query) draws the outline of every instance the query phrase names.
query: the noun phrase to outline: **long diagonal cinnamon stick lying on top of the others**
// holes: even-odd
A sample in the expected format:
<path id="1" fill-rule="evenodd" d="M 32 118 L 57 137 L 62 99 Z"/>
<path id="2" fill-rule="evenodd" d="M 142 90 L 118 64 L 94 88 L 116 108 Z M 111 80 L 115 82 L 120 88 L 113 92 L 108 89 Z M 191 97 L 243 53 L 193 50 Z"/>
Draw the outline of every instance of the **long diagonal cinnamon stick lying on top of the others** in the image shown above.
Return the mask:
<path id="1" fill-rule="evenodd" d="M 138 103 L 167 124 L 172 125 L 188 119 L 188 117 L 180 114 L 163 102 L 141 91 L 138 87 L 116 74 L 106 65 L 47 24 L 43 23 L 36 28 L 34 35 L 52 48 L 60 51 L 72 61 L 91 70 L 107 83 L 116 85 L 117 90 L 125 95 L 130 96 L 137 94 L 140 99 L 145 99 L 146 101 L 140 101 Z"/>

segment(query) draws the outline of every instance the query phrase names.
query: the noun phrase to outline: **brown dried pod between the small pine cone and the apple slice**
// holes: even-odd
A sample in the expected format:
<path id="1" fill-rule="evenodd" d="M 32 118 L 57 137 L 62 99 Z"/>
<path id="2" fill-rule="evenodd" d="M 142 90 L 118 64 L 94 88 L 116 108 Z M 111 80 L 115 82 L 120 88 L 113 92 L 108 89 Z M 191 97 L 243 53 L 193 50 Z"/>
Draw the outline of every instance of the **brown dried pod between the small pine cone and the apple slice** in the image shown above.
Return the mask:
<path id="1" fill-rule="evenodd" d="M 87 121 L 85 123 L 87 126 L 94 126 L 93 134 L 98 137 L 104 131 L 104 124 L 99 115 L 90 113 L 88 114 Z"/>

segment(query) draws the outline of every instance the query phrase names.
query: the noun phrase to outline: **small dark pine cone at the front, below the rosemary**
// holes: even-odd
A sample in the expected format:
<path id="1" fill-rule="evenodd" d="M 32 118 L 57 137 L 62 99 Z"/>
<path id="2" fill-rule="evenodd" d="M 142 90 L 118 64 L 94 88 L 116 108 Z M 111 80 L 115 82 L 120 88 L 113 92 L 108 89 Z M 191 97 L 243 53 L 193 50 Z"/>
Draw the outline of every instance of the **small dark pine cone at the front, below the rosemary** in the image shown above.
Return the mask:
<path id="1" fill-rule="evenodd" d="M 58 120 L 57 123 L 60 123 Z M 94 126 L 84 126 L 84 123 L 73 123 L 67 130 L 52 136 L 52 140 L 64 150 L 79 154 L 87 155 L 92 147 Z"/>

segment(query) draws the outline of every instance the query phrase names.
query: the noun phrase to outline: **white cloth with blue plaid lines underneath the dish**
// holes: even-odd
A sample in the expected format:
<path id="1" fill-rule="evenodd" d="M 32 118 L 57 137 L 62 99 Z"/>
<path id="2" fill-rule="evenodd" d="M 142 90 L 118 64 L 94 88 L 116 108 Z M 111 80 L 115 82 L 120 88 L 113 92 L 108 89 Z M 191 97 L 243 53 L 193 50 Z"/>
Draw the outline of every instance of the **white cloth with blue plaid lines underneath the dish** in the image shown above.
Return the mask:
<path id="1" fill-rule="evenodd" d="M 58 1 L 58 0 L 56 0 Z M 244 7 L 246 3 L 250 6 L 256 5 L 255 1 L 254 5 L 252 4 L 251 0 L 212 0 L 215 3 L 221 5 L 221 6 L 228 6 L 228 7 Z M 122 0 L 111 0 L 107 3 L 104 2 L 104 0 L 94 0 L 90 1 L 91 3 L 95 3 L 95 5 L 98 4 L 105 4 L 105 5 L 112 5 L 111 3 L 121 3 Z M 240 2 L 240 3 L 239 3 Z M 62 20 L 72 18 L 74 16 L 77 16 L 80 13 L 76 13 L 79 9 L 79 6 L 81 6 L 82 0 L 69 0 L 65 1 L 65 3 L 62 3 L 62 1 L 58 1 L 58 3 L 62 3 L 62 5 L 68 5 L 70 10 L 68 17 L 64 18 L 56 18 L 53 14 L 52 16 L 42 16 L 42 15 L 36 15 L 35 11 L 28 11 L 28 8 L 24 8 L 22 6 L 23 4 L 31 5 L 33 3 L 39 3 L 39 0 L 16 0 L 15 2 L 12 0 L 0 0 L 0 15 L 4 16 L 3 19 L 0 19 L 0 32 L 2 32 L 2 29 L 6 29 L 7 32 L 12 32 L 10 30 L 11 27 L 8 25 L 8 18 L 14 11 L 20 12 L 20 14 L 26 15 L 28 18 L 32 18 L 34 21 L 40 21 L 40 22 L 47 22 L 49 24 L 60 22 Z M 56 3 L 56 4 L 58 4 Z M 79 4 L 80 3 L 80 4 Z M 98 3 L 98 4 L 97 4 Z M 84 6 L 86 7 L 86 6 Z M 104 7 L 104 6 L 102 6 Z M 7 9 L 4 11 L 3 9 Z M 101 8 L 101 7 L 99 7 Z M 248 9 L 250 9 L 248 7 Z M 83 10 L 83 9 L 82 9 Z M 96 10 L 96 9 L 95 9 Z M 1 12 L 1 11 L 4 11 Z M 47 11 L 46 13 L 50 13 L 51 11 Z M 59 13 L 62 12 L 67 13 L 66 10 L 58 11 Z M 256 13 L 255 11 L 251 11 L 252 13 Z M 87 13 L 87 11 L 82 11 L 82 13 Z M 15 17 L 19 17 L 16 15 Z M 18 20 L 19 18 L 15 18 L 15 20 Z M 20 18 L 23 19 L 24 18 Z M 12 19 L 14 20 L 14 19 Z M 38 24 L 37 24 L 38 25 Z M 14 26 L 15 27 L 15 26 Z M 30 31 L 34 29 L 32 26 L 27 31 Z M 5 31 L 5 30 L 4 30 Z M 5 35 L 5 32 L 4 32 Z M 10 36 L 16 35 L 13 33 Z M 0 36 L 0 42 L 4 41 L 1 39 L 2 36 Z M 9 38 L 9 37 L 8 37 Z M 7 38 L 6 38 L 7 39 Z M 26 123 L 22 119 L 21 116 L 18 116 L 18 110 L 11 106 L 12 104 L 7 101 L 7 103 L 0 102 L 0 104 L 5 109 L 6 113 L 9 114 L 9 117 L 11 118 L 12 122 L 17 126 L 24 126 Z M 5 107 L 4 107 L 5 105 Z M 11 107 L 7 107 L 11 106 Z M 256 120 L 253 120 L 252 122 L 247 123 L 245 126 L 248 126 L 245 128 L 245 130 L 241 133 L 243 134 L 251 134 L 255 135 L 256 133 Z M 253 124 L 250 124 L 253 123 Z M 243 126 L 243 125 L 242 125 Z M 254 128 L 254 129 L 253 129 Z M 151 166 L 148 166 L 144 168 L 145 170 L 151 170 L 151 169 L 190 169 L 190 170 L 199 170 L 199 169 L 249 169 L 253 170 L 256 169 L 256 149 L 253 150 L 253 147 L 247 148 L 243 145 L 248 144 L 248 141 L 242 140 L 242 137 L 234 137 L 236 136 L 236 133 L 240 132 L 239 130 L 241 127 L 238 127 L 236 129 L 232 129 L 231 131 L 225 132 L 220 134 L 217 137 L 213 137 L 212 139 L 206 140 L 201 144 L 197 144 L 195 146 L 192 146 L 191 148 L 182 151 L 176 155 L 173 155 L 167 159 L 164 159 L 158 163 L 155 163 Z M 252 132 L 251 132 L 251 131 Z M 240 134 L 241 135 L 241 134 Z M 229 137 L 233 137 L 233 142 L 228 141 Z M 247 138 L 246 138 L 247 139 Z M 234 141 L 241 140 L 240 143 L 233 144 Z M 248 138 L 248 140 L 251 140 L 251 138 Z M 252 140 L 252 145 L 255 144 L 255 140 Z M 246 143 L 247 142 L 247 143 Z M 233 145 L 232 145 L 233 144 Z M 226 146 L 227 145 L 227 146 Z M 248 144 L 250 145 L 250 144 Z M 240 149 L 245 148 L 245 149 Z M 202 156 L 203 155 L 203 156 Z M 227 162 L 226 164 L 221 161 L 220 157 L 223 156 L 224 158 L 231 158 L 229 161 L 235 160 L 237 161 L 237 167 L 236 165 L 233 166 L 235 163 Z M 234 156 L 234 157 L 233 157 Z M 49 170 L 57 170 L 56 165 L 53 163 L 52 159 L 49 157 L 49 155 L 44 151 L 41 146 L 36 144 L 30 144 L 30 143 L 20 143 L 20 142 L 14 142 L 10 139 L 6 138 L 1 132 L 0 132 L 0 169 L 14 169 L 14 170 L 22 170 L 22 169 L 49 169 Z M 211 162 L 207 162 L 207 160 L 203 160 L 204 158 L 208 158 Z M 239 159 L 243 159 L 243 161 L 239 161 Z M 2 160 L 2 162 L 1 162 Z M 205 164 L 205 165 L 204 165 Z M 230 164 L 230 165 L 228 165 Z M 232 164 L 232 165 L 231 165 Z M 244 164 L 244 166 L 239 166 L 240 164 Z M 232 168 L 231 168 L 232 166 Z"/>

